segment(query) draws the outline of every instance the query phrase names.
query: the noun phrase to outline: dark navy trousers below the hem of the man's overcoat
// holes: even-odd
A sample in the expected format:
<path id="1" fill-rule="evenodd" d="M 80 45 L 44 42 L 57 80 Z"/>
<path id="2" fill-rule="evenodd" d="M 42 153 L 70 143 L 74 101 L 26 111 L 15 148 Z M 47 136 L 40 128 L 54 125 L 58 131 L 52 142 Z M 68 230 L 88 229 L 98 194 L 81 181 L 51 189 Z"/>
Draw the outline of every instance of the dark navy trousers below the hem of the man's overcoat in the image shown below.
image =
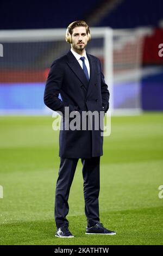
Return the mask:
<path id="1" fill-rule="evenodd" d="M 57 228 L 68 225 L 68 196 L 79 159 L 60 157 L 59 176 L 55 191 L 55 222 Z M 99 162 L 100 157 L 82 159 L 84 179 L 85 215 L 87 227 L 99 223 Z"/>

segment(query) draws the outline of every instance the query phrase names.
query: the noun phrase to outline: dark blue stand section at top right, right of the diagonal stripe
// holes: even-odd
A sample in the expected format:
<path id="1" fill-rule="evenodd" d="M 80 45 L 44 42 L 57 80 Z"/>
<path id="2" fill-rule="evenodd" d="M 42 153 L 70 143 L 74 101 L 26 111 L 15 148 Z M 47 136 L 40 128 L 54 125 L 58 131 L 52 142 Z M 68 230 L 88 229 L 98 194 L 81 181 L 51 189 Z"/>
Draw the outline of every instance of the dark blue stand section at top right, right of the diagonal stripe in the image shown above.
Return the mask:
<path id="1" fill-rule="evenodd" d="M 106 15 L 98 26 L 112 28 L 135 28 L 158 26 L 162 19 L 162 0 L 122 0 L 117 7 Z"/>

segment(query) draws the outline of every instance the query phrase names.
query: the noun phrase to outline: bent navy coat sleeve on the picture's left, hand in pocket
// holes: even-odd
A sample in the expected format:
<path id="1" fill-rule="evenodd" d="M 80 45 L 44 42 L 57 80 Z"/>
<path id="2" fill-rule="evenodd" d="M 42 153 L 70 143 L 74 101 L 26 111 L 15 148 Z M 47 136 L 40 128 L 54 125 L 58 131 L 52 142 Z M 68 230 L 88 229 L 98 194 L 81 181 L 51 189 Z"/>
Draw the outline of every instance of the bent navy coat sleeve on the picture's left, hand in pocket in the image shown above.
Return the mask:
<path id="1" fill-rule="evenodd" d="M 70 111 L 79 108 L 59 99 L 63 79 L 64 69 L 58 61 L 53 62 L 46 81 L 43 100 L 47 107 L 53 111 L 60 111 L 62 114 L 65 113 L 65 107 L 69 107 Z"/>

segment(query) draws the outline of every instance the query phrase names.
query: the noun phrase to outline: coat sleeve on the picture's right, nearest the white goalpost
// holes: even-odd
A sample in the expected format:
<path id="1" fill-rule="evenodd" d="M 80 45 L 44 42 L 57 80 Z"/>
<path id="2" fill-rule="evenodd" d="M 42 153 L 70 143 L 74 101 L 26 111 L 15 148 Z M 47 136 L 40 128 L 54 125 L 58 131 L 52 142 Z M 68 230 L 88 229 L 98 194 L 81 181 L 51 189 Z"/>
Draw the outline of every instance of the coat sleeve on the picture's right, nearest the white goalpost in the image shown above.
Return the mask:
<path id="1" fill-rule="evenodd" d="M 99 60 L 99 65 L 100 65 L 100 69 L 101 69 L 101 95 L 102 95 L 102 105 L 104 107 L 105 113 L 108 111 L 109 109 L 109 97 L 110 97 L 110 93 L 108 90 L 108 86 L 105 83 L 105 79 L 104 79 L 104 75 L 102 72 L 102 68 L 101 68 L 101 62 Z"/>

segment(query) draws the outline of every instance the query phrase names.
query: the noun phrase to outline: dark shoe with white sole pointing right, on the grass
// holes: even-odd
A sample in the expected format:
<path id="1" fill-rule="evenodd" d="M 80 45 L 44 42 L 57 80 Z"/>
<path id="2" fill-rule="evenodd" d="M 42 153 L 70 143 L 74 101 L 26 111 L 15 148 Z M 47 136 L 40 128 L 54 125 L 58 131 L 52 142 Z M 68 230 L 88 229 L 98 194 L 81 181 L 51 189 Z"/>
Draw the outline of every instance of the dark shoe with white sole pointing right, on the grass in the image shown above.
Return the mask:
<path id="1" fill-rule="evenodd" d="M 104 228 L 102 223 L 96 223 L 91 228 L 86 227 L 86 235 L 116 235 L 115 231 Z"/>

